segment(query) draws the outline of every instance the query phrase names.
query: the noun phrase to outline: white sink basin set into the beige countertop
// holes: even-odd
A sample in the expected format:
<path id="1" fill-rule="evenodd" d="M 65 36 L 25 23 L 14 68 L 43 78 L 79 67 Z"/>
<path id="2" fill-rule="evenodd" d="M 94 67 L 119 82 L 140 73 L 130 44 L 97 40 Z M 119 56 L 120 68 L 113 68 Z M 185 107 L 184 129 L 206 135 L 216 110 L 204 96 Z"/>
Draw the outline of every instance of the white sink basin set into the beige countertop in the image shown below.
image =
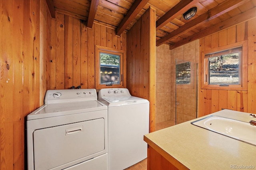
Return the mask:
<path id="1" fill-rule="evenodd" d="M 209 131 L 256 146 L 256 126 L 250 123 L 214 115 L 191 123 Z"/>

